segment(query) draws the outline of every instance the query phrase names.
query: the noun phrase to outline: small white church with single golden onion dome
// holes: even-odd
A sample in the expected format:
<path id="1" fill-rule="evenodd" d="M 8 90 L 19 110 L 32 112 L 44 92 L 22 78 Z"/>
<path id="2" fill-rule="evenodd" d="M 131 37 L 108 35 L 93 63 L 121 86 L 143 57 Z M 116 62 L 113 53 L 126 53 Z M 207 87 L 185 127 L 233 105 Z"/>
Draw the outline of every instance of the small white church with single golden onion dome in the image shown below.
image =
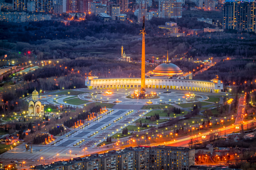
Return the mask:
<path id="1" fill-rule="evenodd" d="M 44 105 L 38 100 L 38 92 L 35 90 L 32 92 L 32 99 L 29 102 L 28 116 L 43 116 Z"/>

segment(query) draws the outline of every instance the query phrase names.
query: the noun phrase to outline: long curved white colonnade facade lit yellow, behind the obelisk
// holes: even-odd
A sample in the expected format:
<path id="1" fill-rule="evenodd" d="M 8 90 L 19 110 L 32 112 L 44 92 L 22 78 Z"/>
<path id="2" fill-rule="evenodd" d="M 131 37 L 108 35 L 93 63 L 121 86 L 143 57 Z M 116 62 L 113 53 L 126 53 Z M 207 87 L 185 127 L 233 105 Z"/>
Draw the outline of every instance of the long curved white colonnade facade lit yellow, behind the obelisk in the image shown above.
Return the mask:
<path id="1" fill-rule="evenodd" d="M 105 78 L 98 77 L 86 79 L 89 89 L 137 89 L 140 88 L 140 78 Z M 188 91 L 202 91 L 217 93 L 223 90 L 220 80 L 201 81 L 189 79 L 156 79 L 146 78 L 145 85 L 148 89 L 176 89 Z"/>

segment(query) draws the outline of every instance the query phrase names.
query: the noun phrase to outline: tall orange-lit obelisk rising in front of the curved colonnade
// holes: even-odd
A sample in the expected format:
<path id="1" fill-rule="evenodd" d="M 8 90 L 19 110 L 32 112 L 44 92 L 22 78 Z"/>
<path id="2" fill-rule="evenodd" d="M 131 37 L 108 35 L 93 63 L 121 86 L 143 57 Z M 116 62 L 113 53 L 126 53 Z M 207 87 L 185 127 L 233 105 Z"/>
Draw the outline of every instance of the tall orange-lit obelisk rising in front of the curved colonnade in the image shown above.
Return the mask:
<path id="1" fill-rule="evenodd" d="M 142 53 L 141 53 L 141 88 L 140 94 L 145 95 L 145 16 L 143 16 L 142 25 Z"/>

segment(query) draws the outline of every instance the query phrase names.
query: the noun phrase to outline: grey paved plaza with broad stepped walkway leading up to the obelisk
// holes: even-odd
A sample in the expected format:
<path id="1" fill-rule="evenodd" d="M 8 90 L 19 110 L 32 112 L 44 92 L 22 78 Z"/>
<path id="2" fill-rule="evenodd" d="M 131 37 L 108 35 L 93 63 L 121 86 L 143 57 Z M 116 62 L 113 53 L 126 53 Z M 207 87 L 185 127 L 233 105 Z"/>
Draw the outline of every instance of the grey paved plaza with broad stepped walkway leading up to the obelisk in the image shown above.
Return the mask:
<path id="1" fill-rule="evenodd" d="M 136 89 L 135 89 L 136 90 Z M 134 121 L 139 118 L 143 118 L 145 114 L 149 113 L 150 109 L 142 109 L 143 106 L 147 105 L 160 105 L 159 103 L 164 103 L 164 106 L 174 106 L 176 108 L 181 108 L 179 103 L 192 103 L 188 102 L 188 94 L 189 91 L 181 91 L 181 90 L 167 90 L 165 89 L 157 89 L 154 92 L 158 94 L 160 98 L 152 99 L 152 104 L 147 104 L 148 100 L 139 100 L 139 99 L 129 99 L 126 96 L 133 93 L 134 90 L 131 89 L 112 89 L 111 94 L 110 90 L 91 90 L 91 89 L 76 89 L 75 91 L 80 91 L 82 94 L 78 96 L 72 95 L 58 95 L 58 91 L 49 94 L 39 94 L 39 100 L 42 104 L 54 104 L 57 106 L 67 105 L 64 100 L 66 98 L 78 98 L 84 102 L 104 104 L 104 103 L 113 103 L 113 101 L 121 101 L 120 103 L 115 103 L 112 108 L 108 108 L 109 111 L 106 114 L 101 114 L 101 118 L 96 121 L 86 121 L 83 125 L 89 123 L 88 126 L 79 126 L 75 129 L 70 129 L 71 131 L 66 133 L 63 136 L 57 137 L 55 141 L 47 144 L 47 145 L 32 145 L 33 153 L 30 153 L 29 150 L 26 150 L 24 144 L 13 148 L 11 151 L 5 152 L 1 155 L 1 158 L 5 159 L 22 159 L 22 160 L 47 160 L 48 162 L 56 161 L 56 155 L 59 154 L 57 160 L 66 160 L 70 157 L 79 157 L 87 154 L 92 154 L 100 151 L 107 151 L 109 149 L 113 149 L 116 146 L 111 146 L 110 148 L 101 148 L 95 147 L 100 144 L 108 136 L 112 136 L 115 133 L 120 132 L 124 127 L 128 125 L 135 125 Z M 59 91 L 61 92 L 61 91 Z M 84 92 L 84 93 L 83 93 Z M 101 93 L 101 94 L 96 94 Z M 105 93 L 108 92 L 108 93 Z M 95 94 L 95 95 L 92 95 Z M 192 93 L 191 93 L 192 94 Z M 198 96 L 197 102 L 207 102 L 208 95 L 211 93 L 207 92 L 195 92 L 194 95 Z M 224 93 L 220 93 L 224 94 Z M 92 98 L 87 98 L 87 96 L 93 96 Z M 29 100 L 30 97 L 27 98 Z M 180 100 L 179 100 L 180 99 Z M 95 101 L 98 100 L 98 101 Z M 99 101 L 101 100 L 101 101 Z M 105 101 L 105 102 L 103 102 Z M 170 102 L 170 103 L 169 103 Z M 209 106 L 214 105 L 213 102 L 207 102 Z M 74 107 L 83 107 L 84 104 L 80 105 L 72 105 Z M 46 109 L 46 108 L 45 108 Z M 184 109 L 186 110 L 186 109 Z M 47 113 L 45 113 L 47 114 Z M 99 117 L 98 116 L 98 117 Z M 119 119 L 120 118 L 120 119 Z M 117 120 L 118 119 L 118 120 Z M 162 119 L 162 118 L 161 118 Z M 117 121 L 116 121 L 117 120 Z M 157 124 L 150 124 L 150 126 L 158 126 Z M 97 133 L 96 133 L 97 132 Z M 72 134 L 73 133 L 73 134 Z M 94 134 L 96 133 L 96 134 Z M 70 135 L 69 135 L 70 134 Z M 89 137 L 90 136 L 90 137 Z M 105 139 L 104 139 L 105 138 Z M 62 139 L 62 140 L 61 140 Z M 128 138 L 121 139 L 112 139 L 117 142 L 120 140 L 121 142 L 126 142 Z M 83 150 L 85 149 L 86 150 Z M 70 152 L 71 151 L 71 152 Z M 43 159 L 42 159 L 43 158 Z"/>

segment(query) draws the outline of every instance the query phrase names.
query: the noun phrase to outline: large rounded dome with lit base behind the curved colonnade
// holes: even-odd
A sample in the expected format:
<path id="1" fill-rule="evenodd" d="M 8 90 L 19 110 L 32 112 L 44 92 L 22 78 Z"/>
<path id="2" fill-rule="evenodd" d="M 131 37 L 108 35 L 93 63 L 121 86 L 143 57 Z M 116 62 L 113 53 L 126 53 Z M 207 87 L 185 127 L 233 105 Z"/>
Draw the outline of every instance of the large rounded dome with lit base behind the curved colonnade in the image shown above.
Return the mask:
<path id="1" fill-rule="evenodd" d="M 169 76 L 183 74 L 183 71 L 175 64 L 164 63 L 155 67 L 155 69 L 152 71 L 152 74 L 155 76 Z"/>

